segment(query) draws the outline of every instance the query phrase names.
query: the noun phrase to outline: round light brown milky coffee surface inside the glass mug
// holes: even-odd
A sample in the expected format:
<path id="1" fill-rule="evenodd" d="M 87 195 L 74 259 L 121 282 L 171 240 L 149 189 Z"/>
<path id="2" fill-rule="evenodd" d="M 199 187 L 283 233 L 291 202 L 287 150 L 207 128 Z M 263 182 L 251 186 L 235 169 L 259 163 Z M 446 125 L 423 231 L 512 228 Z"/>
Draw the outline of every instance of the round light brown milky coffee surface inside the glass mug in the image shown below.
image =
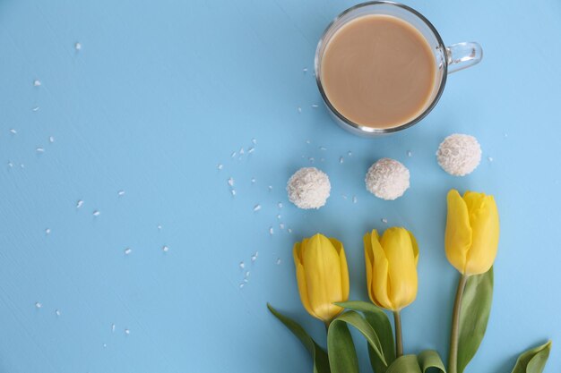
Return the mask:
<path id="1" fill-rule="evenodd" d="M 359 17 L 337 30 L 324 50 L 321 81 L 350 121 L 374 128 L 409 123 L 430 105 L 435 56 L 410 23 L 388 15 Z"/>

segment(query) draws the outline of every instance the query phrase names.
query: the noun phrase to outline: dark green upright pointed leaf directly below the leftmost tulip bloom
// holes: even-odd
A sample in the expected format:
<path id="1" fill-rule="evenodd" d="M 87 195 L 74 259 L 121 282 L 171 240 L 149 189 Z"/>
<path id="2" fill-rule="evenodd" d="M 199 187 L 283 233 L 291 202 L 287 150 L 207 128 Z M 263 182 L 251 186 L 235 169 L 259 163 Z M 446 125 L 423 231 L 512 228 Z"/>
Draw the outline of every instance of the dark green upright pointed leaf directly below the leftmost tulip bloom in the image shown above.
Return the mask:
<path id="1" fill-rule="evenodd" d="M 345 315 L 345 314 L 343 314 Z M 335 318 L 327 331 L 327 352 L 333 373 L 358 373 L 358 358 L 349 326 Z"/>

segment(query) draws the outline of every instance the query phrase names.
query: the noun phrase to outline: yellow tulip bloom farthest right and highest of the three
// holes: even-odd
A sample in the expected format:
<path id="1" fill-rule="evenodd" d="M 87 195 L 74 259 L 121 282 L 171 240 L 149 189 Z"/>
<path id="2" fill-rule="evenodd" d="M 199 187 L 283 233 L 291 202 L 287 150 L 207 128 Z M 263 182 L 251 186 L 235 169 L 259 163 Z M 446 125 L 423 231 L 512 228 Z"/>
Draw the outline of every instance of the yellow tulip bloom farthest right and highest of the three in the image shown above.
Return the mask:
<path id="1" fill-rule="evenodd" d="M 493 196 L 466 191 L 448 192 L 446 258 L 463 276 L 485 273 L 493 266 L 498 247 L 498 210 Z"/>

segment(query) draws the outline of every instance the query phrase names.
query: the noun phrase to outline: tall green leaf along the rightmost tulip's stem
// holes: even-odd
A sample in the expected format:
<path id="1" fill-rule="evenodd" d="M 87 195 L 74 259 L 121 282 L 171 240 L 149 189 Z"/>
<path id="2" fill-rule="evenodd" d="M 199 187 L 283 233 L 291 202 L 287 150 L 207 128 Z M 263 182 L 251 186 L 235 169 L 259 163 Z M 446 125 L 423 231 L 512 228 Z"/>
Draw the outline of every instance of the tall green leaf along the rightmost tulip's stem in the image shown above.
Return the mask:
<path id="1" fill-rule="evenodd" d="M 463 292 L 458 335 L 458 373 L 468 365 L 483 340 L 493 301 L 493 267 L 470 276 Z"/>

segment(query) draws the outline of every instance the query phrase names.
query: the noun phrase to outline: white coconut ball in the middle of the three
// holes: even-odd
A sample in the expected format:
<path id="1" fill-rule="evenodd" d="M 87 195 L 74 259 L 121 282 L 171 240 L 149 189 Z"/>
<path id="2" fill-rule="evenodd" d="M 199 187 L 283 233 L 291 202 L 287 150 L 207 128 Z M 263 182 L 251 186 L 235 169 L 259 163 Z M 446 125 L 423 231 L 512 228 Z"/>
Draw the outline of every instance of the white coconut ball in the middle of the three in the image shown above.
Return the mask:
<path id="1" fill-rule="evenodd" d="M 367 172 L 367 190 L 380 199 L 400 198 L 409 188 L 409 170 L 395 159 L 382 158 Z"/>

